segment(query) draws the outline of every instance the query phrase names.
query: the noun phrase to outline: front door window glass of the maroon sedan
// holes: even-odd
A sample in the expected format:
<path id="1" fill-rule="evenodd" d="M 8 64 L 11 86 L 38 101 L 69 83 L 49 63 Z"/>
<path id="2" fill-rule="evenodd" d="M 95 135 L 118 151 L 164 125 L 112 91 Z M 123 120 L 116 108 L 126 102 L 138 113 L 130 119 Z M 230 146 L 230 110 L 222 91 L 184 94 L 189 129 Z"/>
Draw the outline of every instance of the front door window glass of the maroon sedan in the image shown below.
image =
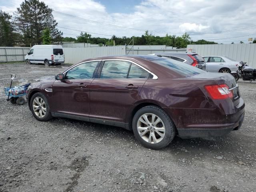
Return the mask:
<path id="1" fill-rule="evenodd" d="M 65 79 L 91 79 L 98 61 L 82 63 L 70 69 Z"/>

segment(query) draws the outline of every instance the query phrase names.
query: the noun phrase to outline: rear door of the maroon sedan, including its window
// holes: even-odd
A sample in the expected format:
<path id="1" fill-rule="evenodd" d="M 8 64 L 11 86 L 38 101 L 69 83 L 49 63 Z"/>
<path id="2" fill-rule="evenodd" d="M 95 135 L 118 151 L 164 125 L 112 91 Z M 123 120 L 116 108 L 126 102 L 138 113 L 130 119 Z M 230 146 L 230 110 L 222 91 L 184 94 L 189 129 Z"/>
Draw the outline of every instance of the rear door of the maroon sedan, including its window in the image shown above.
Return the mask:
<path id="1" fill-rule="evenodd" d="M 90 121 L 124 125 L 150 72 L 128 60 L 104 60 L 90 86 Z"/>

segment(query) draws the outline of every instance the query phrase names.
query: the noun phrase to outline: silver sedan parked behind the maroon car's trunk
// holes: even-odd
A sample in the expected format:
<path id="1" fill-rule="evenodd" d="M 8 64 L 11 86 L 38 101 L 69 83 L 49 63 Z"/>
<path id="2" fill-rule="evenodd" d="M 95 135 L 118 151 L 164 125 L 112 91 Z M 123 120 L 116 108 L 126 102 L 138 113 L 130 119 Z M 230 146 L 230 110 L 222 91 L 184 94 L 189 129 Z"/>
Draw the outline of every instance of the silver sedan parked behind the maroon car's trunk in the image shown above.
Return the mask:
<path id="1" fill-rule="evenodd" d="M 206 71 L 230 73 L 236 72 L 239 62 L 222 56 L 203 56 L 206 64 Z"/>

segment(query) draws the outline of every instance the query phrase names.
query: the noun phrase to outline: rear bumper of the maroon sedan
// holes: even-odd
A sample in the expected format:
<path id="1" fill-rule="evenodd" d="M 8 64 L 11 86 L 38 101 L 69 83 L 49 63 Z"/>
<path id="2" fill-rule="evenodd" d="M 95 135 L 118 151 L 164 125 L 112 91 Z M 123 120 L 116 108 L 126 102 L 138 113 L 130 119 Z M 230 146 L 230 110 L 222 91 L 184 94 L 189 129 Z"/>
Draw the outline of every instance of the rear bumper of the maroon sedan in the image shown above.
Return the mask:
<path id="1" fill-rule="evenodd" d="M 209 136 L 223 136 L 232 130 L 238 130 L 244 120 L 245 104 L 239 98 L 236 106 L 222 108 L 219 110 L 200 109 L 175 109 L 166 110 L 171 114 L 183 114 L 172 116 L 178 130 L 178 135 L 182 138 L 197 138 Z M 184 118 L 186 117 L 186 118 Z"/>

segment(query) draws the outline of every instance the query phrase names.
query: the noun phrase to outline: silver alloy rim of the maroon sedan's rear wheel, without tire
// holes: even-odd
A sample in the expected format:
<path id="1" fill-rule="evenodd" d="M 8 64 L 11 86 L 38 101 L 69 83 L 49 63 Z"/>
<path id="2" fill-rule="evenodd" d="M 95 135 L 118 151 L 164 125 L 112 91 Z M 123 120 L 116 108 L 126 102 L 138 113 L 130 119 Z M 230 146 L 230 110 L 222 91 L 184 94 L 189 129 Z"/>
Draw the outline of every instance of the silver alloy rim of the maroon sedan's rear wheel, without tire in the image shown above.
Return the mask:
<path id="1" fill-rule="evenodd" d="M 161 142 L 165 135 L 163 121 L 153 113 L 140 116 L 137 122 L 137 130 L 140 137 L 150 144 Z"/>

